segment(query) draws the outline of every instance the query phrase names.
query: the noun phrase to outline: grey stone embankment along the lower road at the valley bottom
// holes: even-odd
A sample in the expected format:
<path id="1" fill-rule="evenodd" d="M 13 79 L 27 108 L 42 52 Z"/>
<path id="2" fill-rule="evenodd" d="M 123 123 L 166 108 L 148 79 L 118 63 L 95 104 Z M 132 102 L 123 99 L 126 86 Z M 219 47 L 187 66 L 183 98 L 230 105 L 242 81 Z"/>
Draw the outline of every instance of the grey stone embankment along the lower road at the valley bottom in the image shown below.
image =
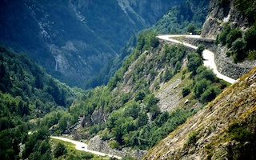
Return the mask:
<path id="1" fill-rule="evenodd" d="M 142 159 L 147 154 L 146 150 L 130 150 L 128 148 L 123 148 L 122 150 L 114 150 L 98 135 L 90 139 L 87 148 L 88 150 L 96 150 L 106 154 L 113 154 L 120 157 L 130 156 L 137 159 Z"/>

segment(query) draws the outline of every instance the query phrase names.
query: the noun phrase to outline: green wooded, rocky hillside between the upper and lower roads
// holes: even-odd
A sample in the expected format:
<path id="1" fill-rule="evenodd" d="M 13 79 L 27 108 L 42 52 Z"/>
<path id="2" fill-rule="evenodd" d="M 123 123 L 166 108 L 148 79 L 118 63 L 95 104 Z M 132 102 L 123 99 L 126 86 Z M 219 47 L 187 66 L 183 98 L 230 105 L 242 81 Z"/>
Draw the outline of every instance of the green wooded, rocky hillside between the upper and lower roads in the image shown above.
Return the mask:
<path id="1" fill-rule="evenodd" d="M 156 35 L 152 30 L 140 33 L 110 82 L 75 101 L 63 116 L 79 122 L 68 122 L 63 133 L 78 139 L 100 135 L 116 150 L 149 150 L 226 87 L 202 66 L 203 47 L 189 53 L 184 46 L 159 42 Z M 181 81 L 175 91 L 180 102 L 172 112 L 162 112 L 162 98 L 156 95 L 174 81 Z M 184 105 L 186 99 L 191 102 Z"/>

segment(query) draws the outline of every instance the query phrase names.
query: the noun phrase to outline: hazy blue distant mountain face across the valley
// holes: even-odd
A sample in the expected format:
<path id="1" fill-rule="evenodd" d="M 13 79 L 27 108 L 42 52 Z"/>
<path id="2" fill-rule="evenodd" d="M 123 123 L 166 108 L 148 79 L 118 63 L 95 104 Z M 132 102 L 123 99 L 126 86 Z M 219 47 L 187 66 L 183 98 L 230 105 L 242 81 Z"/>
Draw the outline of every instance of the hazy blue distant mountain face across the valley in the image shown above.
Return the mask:
<path id="1" fill-rule="evenodd" d="M 30 55 L 50 74 L 80 85 L 175 1 L 2 1 L 0 42 Z"/>

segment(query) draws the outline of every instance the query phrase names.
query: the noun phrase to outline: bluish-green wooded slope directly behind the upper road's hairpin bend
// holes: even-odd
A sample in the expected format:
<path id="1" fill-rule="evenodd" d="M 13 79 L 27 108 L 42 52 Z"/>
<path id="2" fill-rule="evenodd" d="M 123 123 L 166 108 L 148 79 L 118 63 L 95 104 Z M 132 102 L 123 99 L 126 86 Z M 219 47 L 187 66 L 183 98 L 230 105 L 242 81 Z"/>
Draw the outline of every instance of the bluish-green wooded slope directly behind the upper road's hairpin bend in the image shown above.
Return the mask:
<path id="1" fill-rule="evenodd" d="M 200 34 L 208 14 L 209 2 L 208 0 L 183 1 L 178 6 L 173 6 L 152 29 L 162 34 Z"/>

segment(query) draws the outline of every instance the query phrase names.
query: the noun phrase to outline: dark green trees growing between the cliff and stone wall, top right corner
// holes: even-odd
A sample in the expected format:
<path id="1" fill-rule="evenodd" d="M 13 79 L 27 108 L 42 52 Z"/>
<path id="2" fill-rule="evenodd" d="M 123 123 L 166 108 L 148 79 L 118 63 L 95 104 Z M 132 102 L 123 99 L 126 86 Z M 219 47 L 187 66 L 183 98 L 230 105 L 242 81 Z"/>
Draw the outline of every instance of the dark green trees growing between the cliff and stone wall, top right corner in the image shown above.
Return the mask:
<path id="1" fill-rule="evenodd" d="M 218 3 L 225 7 L 230 1 L 218 1 Z M 230 50 L 226 53 L 227 56 L 232 56 L 234 62 L 242 62 L 246 59 L 256 59 L 256 47 L 254 39 L 256 38 L 256 6 L 254 0 L 235 0 L 234 6 L 248 18 L 250 28 L 242 32 L 238 28 L 230 28 L 229 24 L 225 24 L 222 32 L 218 34 L 216 44 L 222 44 Z"/>

